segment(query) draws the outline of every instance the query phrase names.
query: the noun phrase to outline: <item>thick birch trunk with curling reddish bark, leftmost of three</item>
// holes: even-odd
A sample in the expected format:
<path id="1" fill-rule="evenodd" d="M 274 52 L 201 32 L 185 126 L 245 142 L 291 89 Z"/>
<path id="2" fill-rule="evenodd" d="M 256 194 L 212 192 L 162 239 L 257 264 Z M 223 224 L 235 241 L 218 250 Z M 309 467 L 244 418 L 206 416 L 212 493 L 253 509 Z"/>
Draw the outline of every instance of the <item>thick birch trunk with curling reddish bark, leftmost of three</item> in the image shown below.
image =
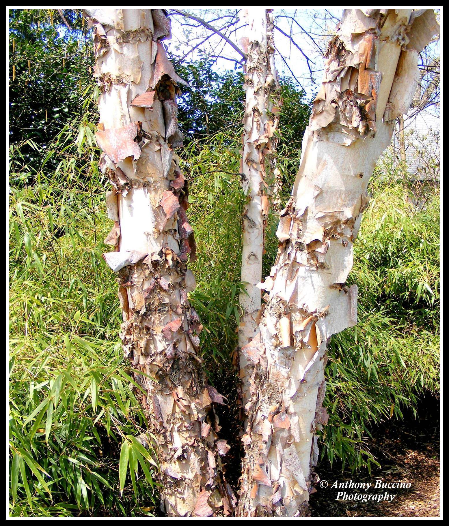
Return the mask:
<path id="1" fill-rule="evenodd" d="M 187 183 L 173 148 L 182 144 L 176 93 L 184 84 L 161 43 L 170 23 L 161 9 L 87 12 L 94 26 L 95 76 L 101 88 L 96 134 L 114 227 L 104 254 L 118 272 L 121 338 L 148 429 L 155 437 L 162 503 L 168 515 L 230 514 L 235 497 L 220 456 L 226 453 L 198 357 L 195 286 L 187 257 L 195 252 L 186 216 Z"/>

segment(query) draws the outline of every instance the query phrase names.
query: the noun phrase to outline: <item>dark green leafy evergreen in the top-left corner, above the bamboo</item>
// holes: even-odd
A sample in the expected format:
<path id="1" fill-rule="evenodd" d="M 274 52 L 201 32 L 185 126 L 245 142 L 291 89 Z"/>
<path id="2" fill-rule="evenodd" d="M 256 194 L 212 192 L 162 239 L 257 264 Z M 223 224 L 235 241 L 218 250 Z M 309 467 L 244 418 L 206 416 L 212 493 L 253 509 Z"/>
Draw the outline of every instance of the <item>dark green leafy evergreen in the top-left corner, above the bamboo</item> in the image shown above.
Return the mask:
<path id="1" fill-rule="evenodd" d="M 81 12 L 66 10 L 65 17 L 70 31 L 55 9 L 9 13 L 11 143 L 30 139 L 45 150 L 85 101 L 84 89 L 92 84 L 92 39 Z M 22 146 L 22 155 L 39 159 L 31 143 Z"/>

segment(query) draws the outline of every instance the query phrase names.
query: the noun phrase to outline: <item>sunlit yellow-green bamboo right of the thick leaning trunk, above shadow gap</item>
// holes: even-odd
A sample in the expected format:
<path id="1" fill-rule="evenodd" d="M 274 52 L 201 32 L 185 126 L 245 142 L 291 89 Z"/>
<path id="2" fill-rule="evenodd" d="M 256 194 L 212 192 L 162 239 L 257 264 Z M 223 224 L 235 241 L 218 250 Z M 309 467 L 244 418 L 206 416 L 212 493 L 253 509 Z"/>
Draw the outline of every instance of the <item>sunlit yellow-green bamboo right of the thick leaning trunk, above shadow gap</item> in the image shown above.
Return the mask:
<path id="1" fill-rule="evenodd" d="M 378 180 L 387 161 L 374 175 L 374 198 L 365 211 L 357 240 L 353 276 L 373 287 L 372 301 L 416 330 L 438 330 L 440 204 L 433 188 L 423 208 L 401 179 Z M 388 172 L 387 172 L 388 173 Z"/>

